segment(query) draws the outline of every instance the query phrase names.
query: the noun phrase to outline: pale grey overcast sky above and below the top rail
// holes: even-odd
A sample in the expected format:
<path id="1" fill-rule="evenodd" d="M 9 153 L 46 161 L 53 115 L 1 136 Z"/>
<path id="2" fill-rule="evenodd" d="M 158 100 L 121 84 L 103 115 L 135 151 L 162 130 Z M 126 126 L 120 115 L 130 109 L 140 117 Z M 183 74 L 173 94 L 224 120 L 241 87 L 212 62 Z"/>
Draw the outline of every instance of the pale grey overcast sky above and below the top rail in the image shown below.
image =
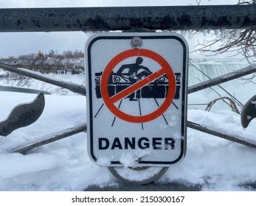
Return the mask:
<path id="1" fill-rule="evenodd" d="M 200 0 L 197 0 L 200 1 Z M 196 0 L 0 0 L 0 8 L 21 7 L 115 7 L 197 5 Z M 201 5 L 237 4 L 238 0 L 201 0 Z M 88 36 L 84 32 L 5 32 L 0 33 L 0 57 L 82 50 Z M 188 40 L 189 43 L 196 39 Z"/>

